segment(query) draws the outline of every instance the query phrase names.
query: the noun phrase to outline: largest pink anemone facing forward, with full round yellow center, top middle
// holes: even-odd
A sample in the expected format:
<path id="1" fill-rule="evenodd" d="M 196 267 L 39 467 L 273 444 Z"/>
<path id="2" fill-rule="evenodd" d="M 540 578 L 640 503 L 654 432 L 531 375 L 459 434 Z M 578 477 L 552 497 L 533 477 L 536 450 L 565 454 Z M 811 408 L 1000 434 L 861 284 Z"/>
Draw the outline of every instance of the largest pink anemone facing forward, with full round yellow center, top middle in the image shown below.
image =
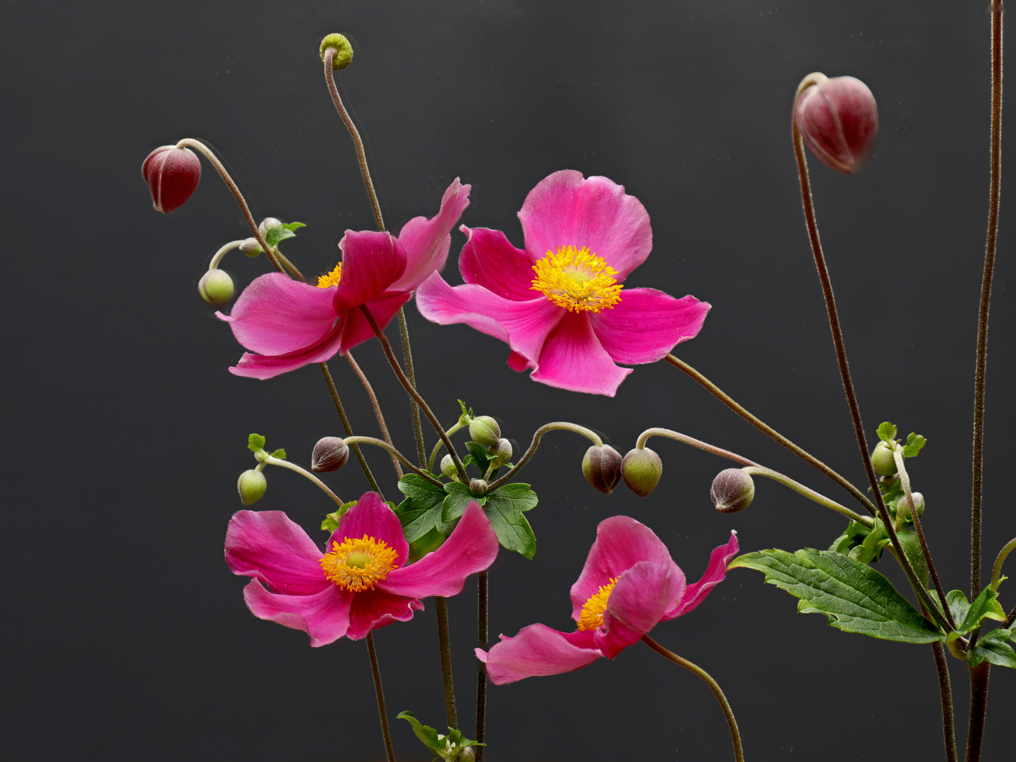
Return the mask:
<path id="1" fill-rule="evenodd" d="M 610 396 L 632 372 L 617 363 L 654 363 L 702 328 L 706 302 L 622 285 L 652 248 L 649 214 L 624 186 L 555 172 L 518 217 L 524 250 L 500 231 L 459 229 L 465 284 L 431 275 L 417 292 L 424 317 L 506 341 L 508 365 L 534 381 Z"/>

